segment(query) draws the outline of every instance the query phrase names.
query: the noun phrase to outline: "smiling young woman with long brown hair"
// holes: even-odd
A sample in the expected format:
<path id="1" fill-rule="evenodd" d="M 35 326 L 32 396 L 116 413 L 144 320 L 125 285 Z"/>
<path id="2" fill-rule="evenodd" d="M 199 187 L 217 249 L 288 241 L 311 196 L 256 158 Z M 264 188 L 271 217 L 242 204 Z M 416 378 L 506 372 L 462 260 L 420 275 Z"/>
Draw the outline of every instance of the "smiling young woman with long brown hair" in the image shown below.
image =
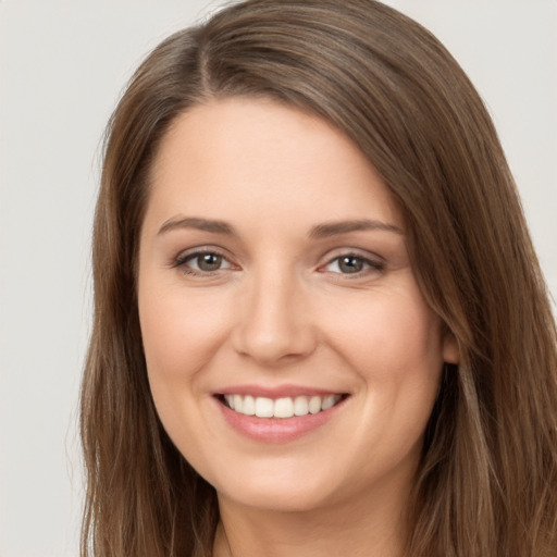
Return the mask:
<path id="1" fill-rule="evenodd" d="M 83 555 L 549 556 L 555 323 L 478 94 L 370 0 L 230 7 L 109 126 Z"/>

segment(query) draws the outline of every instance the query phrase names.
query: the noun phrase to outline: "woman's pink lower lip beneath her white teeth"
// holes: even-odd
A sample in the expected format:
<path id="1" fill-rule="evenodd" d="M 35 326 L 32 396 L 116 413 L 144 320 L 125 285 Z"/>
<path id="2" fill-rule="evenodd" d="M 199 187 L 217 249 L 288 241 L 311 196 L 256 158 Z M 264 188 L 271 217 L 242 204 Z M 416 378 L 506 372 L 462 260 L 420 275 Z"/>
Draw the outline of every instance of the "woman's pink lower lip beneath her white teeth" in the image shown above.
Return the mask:
<path id="1" fill-rule="evenodd" d="M 324 425 L 333 418 L 344 400 L 329 410 L 293 418 L 258 418 L 235 412 L 216 400 L 224 419 L 233 430 L 260 443 L 287 443 L 295 441 Z"/>

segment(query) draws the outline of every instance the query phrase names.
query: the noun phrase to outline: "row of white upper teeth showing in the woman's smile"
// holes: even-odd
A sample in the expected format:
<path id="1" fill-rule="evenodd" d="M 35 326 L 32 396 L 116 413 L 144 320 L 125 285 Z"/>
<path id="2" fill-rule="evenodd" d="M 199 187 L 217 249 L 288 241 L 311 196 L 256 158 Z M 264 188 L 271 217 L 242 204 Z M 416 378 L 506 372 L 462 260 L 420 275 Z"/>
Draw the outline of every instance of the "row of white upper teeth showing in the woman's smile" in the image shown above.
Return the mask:
<path id="1" fill-rule="evenodd" d="M 224 395 L 224 400 L 232 410 L 258 418 L 293 418 L 329 410 L 341 400 L 341 395 L 283 397 L 273 400 L 250 395 Z"/>

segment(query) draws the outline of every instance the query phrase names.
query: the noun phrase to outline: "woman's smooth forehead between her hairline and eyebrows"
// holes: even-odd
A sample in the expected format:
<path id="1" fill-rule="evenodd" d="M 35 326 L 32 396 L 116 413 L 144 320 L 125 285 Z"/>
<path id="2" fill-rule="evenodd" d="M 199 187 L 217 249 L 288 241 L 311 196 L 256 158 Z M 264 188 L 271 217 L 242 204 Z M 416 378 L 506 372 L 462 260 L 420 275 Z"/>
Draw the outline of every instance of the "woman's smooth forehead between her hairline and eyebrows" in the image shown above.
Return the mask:
<path id="1" fill-rule="evenodd" d="M 245 98 L 181 114 L 151 169 L 148 212 L 159 220 L 173 211 L 230 220 L 248 210 L 260 220 L 381 218 L 401 224 L 372 164 L 322 119 Z"/>

